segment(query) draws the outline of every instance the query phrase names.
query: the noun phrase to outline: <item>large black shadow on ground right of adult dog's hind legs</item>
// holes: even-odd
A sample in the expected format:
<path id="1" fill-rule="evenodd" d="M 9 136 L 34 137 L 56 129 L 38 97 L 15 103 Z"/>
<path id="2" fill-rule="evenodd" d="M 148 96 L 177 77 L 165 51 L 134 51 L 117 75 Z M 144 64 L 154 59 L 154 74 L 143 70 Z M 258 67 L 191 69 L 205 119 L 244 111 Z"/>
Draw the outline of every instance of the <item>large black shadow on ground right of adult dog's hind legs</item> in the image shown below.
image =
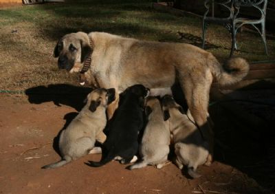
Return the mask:
<path id="1" fill-rule="evenodd" d="M 225 95 L 232 100 L 210 105 L 215 125 L 214 156 L 274 191 L 275 89 L 274 83 L 260 82 Z"/>

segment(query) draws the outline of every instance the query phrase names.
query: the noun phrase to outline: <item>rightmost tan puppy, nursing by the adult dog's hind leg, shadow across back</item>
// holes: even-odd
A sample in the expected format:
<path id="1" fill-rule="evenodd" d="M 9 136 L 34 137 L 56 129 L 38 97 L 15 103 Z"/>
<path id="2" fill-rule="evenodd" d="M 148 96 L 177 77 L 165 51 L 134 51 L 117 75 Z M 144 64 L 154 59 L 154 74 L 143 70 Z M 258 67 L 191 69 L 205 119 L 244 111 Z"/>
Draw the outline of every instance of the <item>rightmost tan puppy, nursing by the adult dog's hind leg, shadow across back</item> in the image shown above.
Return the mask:
<path id="1" fill-rule="evenodd" d="M 206 163 L 209 154 L 208 141 L 204 139 L 203 134 L 191 121 L 190 112 L 188 111 L 187 115 L 184 114 L 183 109 L 175 103 L 171 96 L 166 95 L 162 98 L 162 110 L 164 111 L 164 120 L 169 121 L 177 155 L 177 166 L 179 169 L 183 169 L 183 165 L 186 165 L 191 177 L 200 177 L 201 175 L 196 170 L 199 165 Z"/>

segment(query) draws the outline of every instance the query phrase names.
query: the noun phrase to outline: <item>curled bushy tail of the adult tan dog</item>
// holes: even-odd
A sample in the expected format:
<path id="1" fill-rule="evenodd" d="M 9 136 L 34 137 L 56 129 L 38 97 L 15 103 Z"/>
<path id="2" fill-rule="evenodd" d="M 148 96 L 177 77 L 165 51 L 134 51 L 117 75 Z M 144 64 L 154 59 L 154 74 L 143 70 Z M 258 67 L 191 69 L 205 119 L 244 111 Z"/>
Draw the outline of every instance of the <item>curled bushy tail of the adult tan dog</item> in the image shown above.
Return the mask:
<path id="1" fill-rule="evenodd" d="M 248 62 L 241 57 L 228 59 L 219 70 L 214 71 L 219 85 L 231 85 L 238 83 L 249 72 Z"/>

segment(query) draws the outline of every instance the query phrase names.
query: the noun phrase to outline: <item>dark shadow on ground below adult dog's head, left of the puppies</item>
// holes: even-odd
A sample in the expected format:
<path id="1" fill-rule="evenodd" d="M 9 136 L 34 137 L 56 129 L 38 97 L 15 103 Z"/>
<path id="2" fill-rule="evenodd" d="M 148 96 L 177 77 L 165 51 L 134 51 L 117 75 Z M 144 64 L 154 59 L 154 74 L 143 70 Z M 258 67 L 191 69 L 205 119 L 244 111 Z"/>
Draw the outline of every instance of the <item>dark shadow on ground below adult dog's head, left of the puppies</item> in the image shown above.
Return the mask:
<path id="1" fill-rule="evenodd" d="M 67 105 L 80 111 L 86 96 L 92 91 L 91 87 L 78 87 L 68 84 L 41 85 L 25 90 L 28 100 L 33 104 L 53 102 L 54 105 Z"/>

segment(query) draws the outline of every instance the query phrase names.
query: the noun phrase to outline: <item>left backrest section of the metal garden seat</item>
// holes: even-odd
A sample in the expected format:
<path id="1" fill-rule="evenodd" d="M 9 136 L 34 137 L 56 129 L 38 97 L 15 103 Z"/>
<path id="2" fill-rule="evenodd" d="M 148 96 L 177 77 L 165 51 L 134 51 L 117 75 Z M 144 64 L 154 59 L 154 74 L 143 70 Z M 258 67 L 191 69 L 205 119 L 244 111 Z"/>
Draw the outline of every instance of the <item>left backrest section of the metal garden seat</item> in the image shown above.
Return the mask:
<path id="1" fill-rule="evenodd" d="M 234 7 L 232 0 L 205 0 L 206 12 L 203 17 L 232 19 Z"/>

